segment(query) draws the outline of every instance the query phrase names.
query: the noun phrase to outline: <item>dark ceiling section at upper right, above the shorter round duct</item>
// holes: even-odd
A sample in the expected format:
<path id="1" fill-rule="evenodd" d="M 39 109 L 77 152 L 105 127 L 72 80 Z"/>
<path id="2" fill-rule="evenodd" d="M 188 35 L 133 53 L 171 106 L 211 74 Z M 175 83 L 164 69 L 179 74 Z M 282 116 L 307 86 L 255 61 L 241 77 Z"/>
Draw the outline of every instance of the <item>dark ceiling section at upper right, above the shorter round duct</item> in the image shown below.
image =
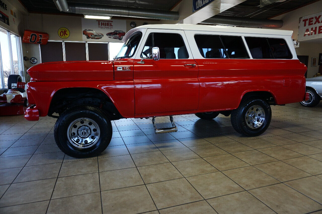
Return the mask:
<path id="1" fill-rule="evenodd" d="M 259 0 L 247 0 L 219 14 L 267 19 L 313 2 L 317 0 L 284 0 L 260 8 Z"/>

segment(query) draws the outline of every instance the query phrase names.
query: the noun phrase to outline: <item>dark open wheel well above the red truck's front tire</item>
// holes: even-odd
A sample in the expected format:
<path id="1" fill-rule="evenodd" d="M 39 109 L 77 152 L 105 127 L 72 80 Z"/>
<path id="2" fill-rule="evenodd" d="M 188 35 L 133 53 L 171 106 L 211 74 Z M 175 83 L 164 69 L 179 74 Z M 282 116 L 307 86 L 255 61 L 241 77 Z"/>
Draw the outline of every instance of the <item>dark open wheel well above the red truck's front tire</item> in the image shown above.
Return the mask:
<path id="1" fill-rule="evenodd" d="M 110 95 L 93 87 L 68 87 L 53 91 L 48 109 L 48 116 L 54 112 L 62 113 L 71 106 L 88 104 L 100 108 L 110 120 L 123 118 Z"/>

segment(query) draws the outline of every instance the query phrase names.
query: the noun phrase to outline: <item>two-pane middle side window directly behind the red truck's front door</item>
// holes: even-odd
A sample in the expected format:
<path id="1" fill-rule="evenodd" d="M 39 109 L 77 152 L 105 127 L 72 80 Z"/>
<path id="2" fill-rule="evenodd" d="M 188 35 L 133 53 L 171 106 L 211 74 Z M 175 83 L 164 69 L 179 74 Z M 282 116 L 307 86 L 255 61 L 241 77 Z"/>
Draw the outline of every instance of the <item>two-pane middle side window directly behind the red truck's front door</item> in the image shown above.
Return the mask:
<path id="1" fill-rule="evenodd" d="M 194 40 L 204 58 L 248 58 L 240 36 L 195 35 Z"/>

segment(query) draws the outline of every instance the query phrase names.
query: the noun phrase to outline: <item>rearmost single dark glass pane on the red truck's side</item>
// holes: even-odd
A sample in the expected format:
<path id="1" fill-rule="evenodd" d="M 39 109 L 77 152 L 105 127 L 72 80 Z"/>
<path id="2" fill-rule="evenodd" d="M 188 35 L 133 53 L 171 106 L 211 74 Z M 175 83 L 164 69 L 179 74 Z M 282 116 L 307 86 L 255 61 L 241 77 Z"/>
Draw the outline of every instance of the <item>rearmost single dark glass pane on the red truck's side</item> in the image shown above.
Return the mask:
<path id="1" fill-rule="evenodd" d="M 289 47 L 284 39 L 267 39 L 270 44 L 270 49 L 275 59 L 291 59 L 293 58 Z"/>

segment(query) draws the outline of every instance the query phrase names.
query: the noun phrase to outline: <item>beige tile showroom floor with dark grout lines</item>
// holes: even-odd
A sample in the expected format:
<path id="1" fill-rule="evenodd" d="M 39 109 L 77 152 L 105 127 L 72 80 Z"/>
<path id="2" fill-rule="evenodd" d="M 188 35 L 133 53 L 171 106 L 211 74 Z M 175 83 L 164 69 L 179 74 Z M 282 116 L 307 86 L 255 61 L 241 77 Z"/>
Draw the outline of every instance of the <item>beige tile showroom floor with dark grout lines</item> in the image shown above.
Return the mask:
<path id="1" fill-rule="evenodd" d="M 222 115 L 174 116 L 179 131 L 158 135 L 149 119 L 117 120 L 86 159 L 58 149 L 52 118 L 0 117 L 0 213 L 321 213 L 321 111 L 272 106 L 257 138 Z"/>

